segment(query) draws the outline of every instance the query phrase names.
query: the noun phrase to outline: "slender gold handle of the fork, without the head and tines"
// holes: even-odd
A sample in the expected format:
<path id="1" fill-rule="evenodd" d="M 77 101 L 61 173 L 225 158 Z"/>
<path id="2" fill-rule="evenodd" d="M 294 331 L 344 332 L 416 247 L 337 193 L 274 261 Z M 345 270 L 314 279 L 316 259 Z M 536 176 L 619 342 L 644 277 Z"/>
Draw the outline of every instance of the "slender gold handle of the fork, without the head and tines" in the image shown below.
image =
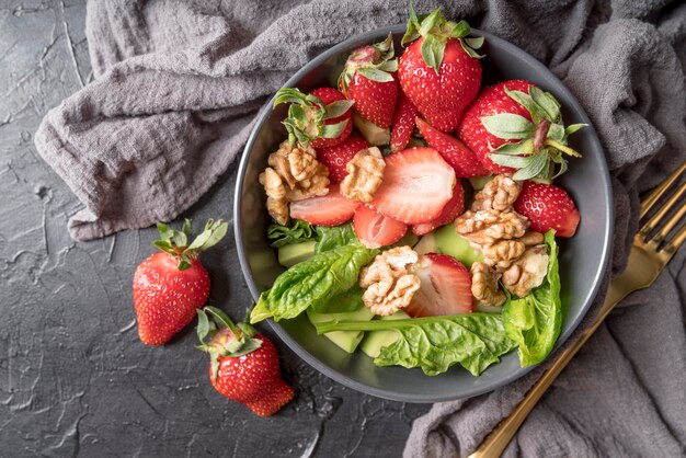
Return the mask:
<path id="1" fill-rule="evenodd" d="M 605 302 L 603 302 L 603 307 L 601 307 L 601 311 L 593 321 L 593 324 L 584 331 L 575 342 L 560 353 L 552 366 L 544 373 L 510 416 L 495 426 L 491 434 L 481 443 L 479 448 L 469 455 L 469 458 L 496 458 L 502 455 L 507 444 L 510 444 L 515 434 L 517 434 L 519 426 L 522 426 L 526 417 L 531 410 L 534 410 L 540 398 L 548 391 L 548 388 L 550 388 L 560 373 L 562 373 L 569 362 L 572 360 L 576 352 L 581 350 L 588 337 L 601 327 L 605 317 L 607 317 L 615 306 L 630 293 L 630 290 L 624 286 L 626 284 L 626 282 L 616 280 L 610 283 Z"/>

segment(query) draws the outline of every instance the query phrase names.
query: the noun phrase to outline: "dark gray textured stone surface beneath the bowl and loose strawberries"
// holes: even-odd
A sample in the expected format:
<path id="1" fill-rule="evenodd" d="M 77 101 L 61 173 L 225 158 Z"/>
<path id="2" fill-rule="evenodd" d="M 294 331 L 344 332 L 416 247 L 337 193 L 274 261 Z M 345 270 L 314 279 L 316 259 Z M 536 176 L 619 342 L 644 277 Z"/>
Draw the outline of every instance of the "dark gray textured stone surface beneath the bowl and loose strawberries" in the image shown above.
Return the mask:
<path id="1" fill-rule="evenodd" d="M 214 391 L 192 328 L 139 342 L 130 279 L 155 231 L 72 241 L 80 204 L 33 146 L 46 111 L 92 78 L 84 3 L 0 0 L 0 455 L 398 456 L 427 405 L 343 388 L 276 342 L 298 393 L 262 420 Z M 184 216 L 229 218 L 235 175 Z M 204 260 L 214 304 L 240 317 L 233 233 Z"/>

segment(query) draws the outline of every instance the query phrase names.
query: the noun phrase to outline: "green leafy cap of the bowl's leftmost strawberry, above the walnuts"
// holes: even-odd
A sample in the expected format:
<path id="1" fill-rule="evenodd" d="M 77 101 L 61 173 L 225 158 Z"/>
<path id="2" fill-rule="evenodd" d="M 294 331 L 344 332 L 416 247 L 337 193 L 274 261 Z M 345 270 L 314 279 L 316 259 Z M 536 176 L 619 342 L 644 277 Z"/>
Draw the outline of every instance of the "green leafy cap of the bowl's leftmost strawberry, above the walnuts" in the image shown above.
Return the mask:
<path id="1" fill-rule="evenodd" d="M 288 141 L 296 141 L 307 148 L 316 138 L 336 138 L 347 126 L 348 119 L 336 124 L 325 124 L 324 121 L 342 116 L 353 106 L 353 102 L 341 100 L 324 105 L 316 95 L 305 94 L 298 89 L 284 88 L 276 93 L 274 106 L 289 103 L 288 117 L 283 121 L 288 131 Z"/>

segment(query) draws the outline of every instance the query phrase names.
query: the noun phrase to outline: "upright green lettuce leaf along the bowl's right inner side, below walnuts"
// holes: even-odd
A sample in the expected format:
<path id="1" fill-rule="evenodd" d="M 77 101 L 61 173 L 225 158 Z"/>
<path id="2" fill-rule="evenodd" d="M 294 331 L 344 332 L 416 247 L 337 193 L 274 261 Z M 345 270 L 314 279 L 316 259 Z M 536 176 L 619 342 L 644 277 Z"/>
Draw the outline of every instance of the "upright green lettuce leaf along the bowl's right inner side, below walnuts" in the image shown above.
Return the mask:
<path id="1" fill-rule="evenodd" d="M 503 308 L 505 330 L 519 347 L 522 366 L 542 362 L 552 351 L 562 327 L 560 273 L 554 231 L 546 233 L 548 273 L 544 283 L 523 298 L 508 298 Z"/>

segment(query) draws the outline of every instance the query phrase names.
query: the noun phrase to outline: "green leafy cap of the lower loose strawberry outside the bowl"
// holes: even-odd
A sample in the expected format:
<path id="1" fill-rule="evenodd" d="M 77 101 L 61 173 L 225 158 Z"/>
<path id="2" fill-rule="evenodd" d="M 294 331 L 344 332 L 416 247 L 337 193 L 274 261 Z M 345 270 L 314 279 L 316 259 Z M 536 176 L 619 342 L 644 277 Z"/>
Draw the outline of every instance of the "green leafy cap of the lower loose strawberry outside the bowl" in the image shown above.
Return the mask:
<path id="1" fill-rule="evenodd" d="M 244 322 L 233 324 L 228 314 L 211 306 L 197 310 L 196 332 L 201 340 L 196 348 L 209 354 L 215 380 L 221 357 L 243 356 L 262 346 L 262 341 L 254 337 L 256 331 L 253 327 Z M 207 337 L 211 339 L 207 341 Z"/>

